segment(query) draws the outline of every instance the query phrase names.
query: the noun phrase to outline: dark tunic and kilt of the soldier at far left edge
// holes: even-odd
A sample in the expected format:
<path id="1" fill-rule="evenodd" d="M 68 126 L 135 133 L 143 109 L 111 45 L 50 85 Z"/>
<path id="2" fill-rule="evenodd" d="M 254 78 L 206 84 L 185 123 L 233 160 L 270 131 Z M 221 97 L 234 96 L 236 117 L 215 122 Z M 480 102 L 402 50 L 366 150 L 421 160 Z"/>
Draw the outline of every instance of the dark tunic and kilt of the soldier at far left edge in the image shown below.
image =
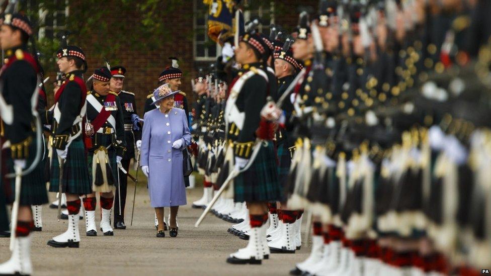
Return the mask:
<path id="1" fill-rule="evenodd" d="M 10 148 L 7 149 L 6 166 L 2 167 L 2 176 L 8 172 L 14 172 L 14 160 L 26 160 L 27 169 L 31 167 L 36 153 L 36 134 L 35 124 L 32 115 L 31 97 L 36 89 L 37 73 L 39 65 L 33 57 L 26 52 L 24 46 L 16 47 L 6 51 L 6 66 L 0 73 L 2 85 L 2 96 L 7 105 L 11 105 L 13 110 L 13 121 L 7 123 L 0 122 L 0 144 L 10 141 Z M 41 130 L 39 130 L 41 131 Z M 44 146 L 41 143 L 39 149 L 43 153 Z M 41 155 L 42 156 L 42 155 Z M 48 202 L 44 180 L 44 161 L 36 164 L 34 170 L 22 177 L 20 191 L 20 205 L 41 205 Z M 0 179 L 2 192 L 14 192 L 7 195 L 15 195 L 15 178 Z M 8 185 L 10 184 L 10 185 Z M 0 194 L 3 194 L 0 192 Z M 10 200 L 8 200 L 10 201 Z M 0 200 L 0 204 L 5 203 L 5 196 Z M 2 205 L 4 208 L 5 205 Z M 6 223 L 5 210 L 0 211 L 0 229 L 8 229 Z"/>

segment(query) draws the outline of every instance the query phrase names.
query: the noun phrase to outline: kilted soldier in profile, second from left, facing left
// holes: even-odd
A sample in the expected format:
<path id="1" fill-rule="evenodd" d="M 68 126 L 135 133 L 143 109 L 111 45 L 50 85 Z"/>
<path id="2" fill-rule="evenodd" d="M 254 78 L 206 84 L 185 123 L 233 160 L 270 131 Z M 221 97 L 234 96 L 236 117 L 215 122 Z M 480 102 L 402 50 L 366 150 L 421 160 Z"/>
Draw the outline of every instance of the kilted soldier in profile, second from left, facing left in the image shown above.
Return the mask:
<path id="1" fill-rule="evenodd" d="M 84 51 L 74 45 L 58 50 L 57 64 L 65 80 L 55 94 L 53 112 L 47 112 L 51 121 L 53 149 L 51 156 L 51 180 L 49 191 L 65 193 L 68 210 L 68 229 L 48 241 L 53 247 L 78 247 L 79 196 L 92 192 L 87 170 L 87 159 L 83 142 L 83 118 L 86 115 L 87 88 L 83 73 L 87 70 Z M 60 166 L 60 164 L 62 164 Z M 62 183 L 60 186 L 60 169 Z"/>

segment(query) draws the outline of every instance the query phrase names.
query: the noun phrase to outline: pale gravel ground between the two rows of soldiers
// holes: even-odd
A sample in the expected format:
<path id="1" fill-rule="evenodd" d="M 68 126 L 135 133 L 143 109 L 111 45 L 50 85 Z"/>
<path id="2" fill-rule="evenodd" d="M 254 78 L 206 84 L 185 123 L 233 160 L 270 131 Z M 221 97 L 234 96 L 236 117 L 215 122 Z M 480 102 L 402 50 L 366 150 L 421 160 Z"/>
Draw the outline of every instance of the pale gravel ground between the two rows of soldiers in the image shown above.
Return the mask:
<path id="1" fill-rule="evenodd" d="M 188 205 L 182 206 L 178 215 L 178 237 L 169 237 L 167 231 L 166 238 L 156 238 L 154 213 L 143 182 L 137 186 L 133 226 L 130 226 L 133 191 L 134 186 L 129 183 L 127 229 L 115 229 L 112 237 L 102 236 L 100 231 L 97 237 L 87 237 L 85 220 L 80 220 L 80 248 L 46 245 L 67 227 L 67 221 L 57 221 L 56 209 L 46 205 L 43 231 L 33 233 L 34 275 L 287 275 L 295 262 L 308 256 L 309 248 L 304 244 L 295 254 L 273 254 L 262 265 L 227 264 L 228 255 L 246 246 L 247 241 L 228 234 L 226 230 L 231 224 L 211 214 L 199 228 L 194 227 L 202 210 L 192 209 L 191 203 L 201 197 L 202 188 L 187 190 Z M 50 194 L 50 199 L 54 200 L 54 194 Z M 168 209 L 166 216 L 167 212 Z M 302 231 L 304 227 L 305 221 Z M 0 239 L 0 261 L 9 257 L 9 239 Z"/>

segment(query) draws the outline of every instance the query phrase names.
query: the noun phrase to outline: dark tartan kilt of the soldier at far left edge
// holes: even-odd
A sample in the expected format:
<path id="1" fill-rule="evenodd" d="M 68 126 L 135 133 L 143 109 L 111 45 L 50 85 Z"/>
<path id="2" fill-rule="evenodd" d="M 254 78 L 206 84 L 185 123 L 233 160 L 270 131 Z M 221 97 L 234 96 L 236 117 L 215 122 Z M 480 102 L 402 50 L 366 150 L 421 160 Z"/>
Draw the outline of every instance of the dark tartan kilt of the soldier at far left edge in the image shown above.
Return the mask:
<path id="1" fill-rule="evenodd" d="M 33 138 L 33 142 L 29 146 L 29 157 L 27 158 L 26 167 L 27 169 L 31 166 L 32 162 L 36 158 L 36 136 L 33 133 L 31 136 Z M 44 142 L 44 141 L 43 141 Z M 36 165 L 34 170 L 22 176 L 21 181 L 21 195 L 19 204 L 23 206 L 30 205 L 42 205 L 48 203 L 48 193 L 46 192 L 46 181 L 44 177 L 44 167 L 46 162 L 46 148 L 43 143 L 41 143 L 41 159 L 39 163 Z M 10 149 L 7 150 L 8 156 L 11 156 Z M 14 172 L 14 160 L 12 158 L 7 159 L 7 167 L 9 172 Z M 11 203 L 15 198 L 15 178 L 6 179 L 11 185 L 12 195 L 10 200 L 8 198 L 8 202 Z"/>

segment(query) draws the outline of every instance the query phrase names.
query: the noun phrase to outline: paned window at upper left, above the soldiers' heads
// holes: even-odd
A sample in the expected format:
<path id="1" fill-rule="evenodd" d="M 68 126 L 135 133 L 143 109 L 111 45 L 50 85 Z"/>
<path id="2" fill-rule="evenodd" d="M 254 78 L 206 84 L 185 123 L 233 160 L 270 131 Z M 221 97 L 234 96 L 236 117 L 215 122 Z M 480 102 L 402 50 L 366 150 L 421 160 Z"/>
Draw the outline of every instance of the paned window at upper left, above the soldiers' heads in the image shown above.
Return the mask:
<path id="1" fill-rule="evenodd" d="M 68 1 L 55 0 L 53 4 L 39 4 L 39 38 L 53 39 L 58 31 L 66 27 Z"/>

